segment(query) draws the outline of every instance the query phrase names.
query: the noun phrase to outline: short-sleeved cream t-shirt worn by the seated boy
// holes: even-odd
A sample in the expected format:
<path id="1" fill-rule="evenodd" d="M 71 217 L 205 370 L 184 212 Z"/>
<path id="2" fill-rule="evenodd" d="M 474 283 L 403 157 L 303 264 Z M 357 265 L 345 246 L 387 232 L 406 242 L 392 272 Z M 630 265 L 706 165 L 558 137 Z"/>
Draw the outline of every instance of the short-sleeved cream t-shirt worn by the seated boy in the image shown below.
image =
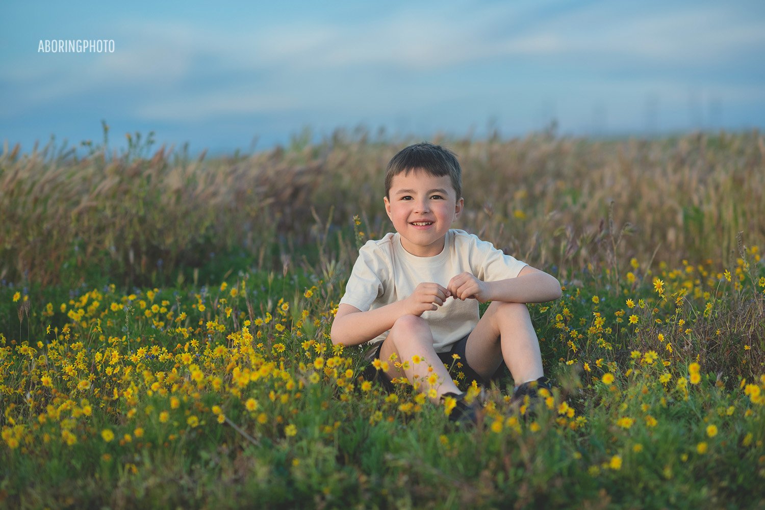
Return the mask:
<path id="1" fill-rule="evenodd" d="M 443 251 L 434 257 L 418 257 L 401 245 L 399 233 L 388 233 L 377 241 L 367 241 L 359 250 L 345 295 L 340 304 L 350 304 L 360 311 L 373 310 L 412 295 L 423 282 L 446 287 L 451 278 L 464 271 L 481 281 L 516 278 L 525 262 L 481 241 L 464 230 L 450 229 Z M 451 344 L 469 334 L 478 323 L 478 301 L 448 297 L 438 310 L 422 313 L 433 333 L 436 352 L 448 352 Z M 369 341 L 376 345 L 388 332 Z"/>

